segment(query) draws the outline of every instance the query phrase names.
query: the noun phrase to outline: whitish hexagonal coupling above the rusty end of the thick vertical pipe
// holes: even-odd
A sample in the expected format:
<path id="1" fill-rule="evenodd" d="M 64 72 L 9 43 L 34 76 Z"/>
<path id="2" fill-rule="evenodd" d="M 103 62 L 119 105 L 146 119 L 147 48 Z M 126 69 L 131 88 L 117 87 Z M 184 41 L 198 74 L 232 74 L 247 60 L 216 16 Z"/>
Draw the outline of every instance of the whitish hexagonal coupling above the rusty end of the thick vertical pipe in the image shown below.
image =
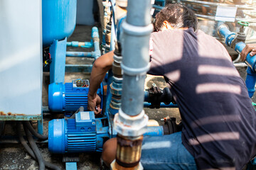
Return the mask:
<path id="1" fill-rule="evenodd" d="M 138 137 L 146 132 L 148 120 L 144 110 L 139 115 L 129 116 L 120 108 L 119 113 L 114 115 L 114 129 L 123 136 Z"/>

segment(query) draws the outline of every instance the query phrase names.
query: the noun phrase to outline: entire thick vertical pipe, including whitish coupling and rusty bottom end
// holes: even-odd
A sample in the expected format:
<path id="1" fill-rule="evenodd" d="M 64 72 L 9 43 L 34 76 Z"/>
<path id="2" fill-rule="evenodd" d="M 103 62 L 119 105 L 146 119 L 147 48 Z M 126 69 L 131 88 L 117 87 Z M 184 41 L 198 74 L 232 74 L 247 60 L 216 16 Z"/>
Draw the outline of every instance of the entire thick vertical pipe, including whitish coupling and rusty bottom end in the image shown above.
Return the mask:
<path id="1" fill-rule="evenodd" d="M 148 117 L 143 110 L 144 81 L 149 70 L 151 0 L 129 0 L 122 23 L 122 104 L 114 116 L 117 155 L 112 169 L 143 169 L 139 163 Z"/>

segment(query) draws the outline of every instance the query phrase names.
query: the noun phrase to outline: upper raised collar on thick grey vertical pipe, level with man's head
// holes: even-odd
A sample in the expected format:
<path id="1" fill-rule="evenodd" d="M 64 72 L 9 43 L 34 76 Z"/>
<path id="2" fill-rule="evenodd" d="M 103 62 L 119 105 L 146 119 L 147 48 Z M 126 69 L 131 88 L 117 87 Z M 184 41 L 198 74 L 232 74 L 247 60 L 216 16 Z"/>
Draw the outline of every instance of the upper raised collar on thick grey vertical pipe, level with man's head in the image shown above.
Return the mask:
<path id="1" fill-rule="evenodd" d="M 148 26 L 132 26 L 131 24 L 127 23 L 127 21 L 124 21 L 122 23 L 122 28 L 124 33 L 129 35 L 148 36 L 153 30 L 153 25 L 149 24 Z"/>

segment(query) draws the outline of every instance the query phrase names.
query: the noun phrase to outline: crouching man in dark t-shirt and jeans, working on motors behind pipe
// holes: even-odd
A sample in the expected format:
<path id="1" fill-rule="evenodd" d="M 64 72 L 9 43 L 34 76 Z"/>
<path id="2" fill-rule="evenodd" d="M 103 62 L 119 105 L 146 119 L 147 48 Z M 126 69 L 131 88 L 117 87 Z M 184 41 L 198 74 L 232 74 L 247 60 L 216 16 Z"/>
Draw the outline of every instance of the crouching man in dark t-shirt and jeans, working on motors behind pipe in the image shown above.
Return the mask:
<path id="1" fill-rule="evenodd" d="M 195 14 L 178 4 L 156 15 L 149 74 L 164 76 L 183 120 L 182 132 L 144 137 L 144 169 L 242 169 L 256 154 L 256 117 L 244 81 L 225 47 L 196 30 Z M 99 111 L 96 91 L 113 52 L 96 60 L 88 108 Z M 105 164 L 115 158 L 116 139 L 105 142 Z"/>

